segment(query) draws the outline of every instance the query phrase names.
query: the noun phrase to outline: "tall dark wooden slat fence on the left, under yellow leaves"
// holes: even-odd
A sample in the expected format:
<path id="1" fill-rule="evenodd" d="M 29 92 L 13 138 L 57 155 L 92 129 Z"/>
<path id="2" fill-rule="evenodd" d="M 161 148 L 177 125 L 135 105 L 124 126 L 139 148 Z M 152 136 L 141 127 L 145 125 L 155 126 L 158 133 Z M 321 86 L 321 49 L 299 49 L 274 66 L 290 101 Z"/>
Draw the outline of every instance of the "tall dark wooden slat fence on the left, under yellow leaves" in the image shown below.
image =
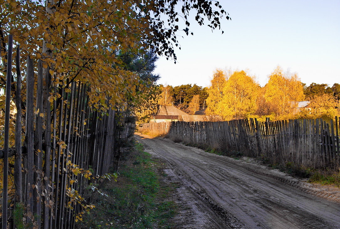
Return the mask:
<path id="1" fill-rule="evenodd" d="M 1 130 L 7 135 L 5 142 L 8 135 L 12 137 L 10 142 L 15 142 L 9 147 L 5 144 L 0 151 L 4 171 L 2 228 L 7 223 L 9 228 L 15 227 L 13 208 L 16 214 L 22 214 L 28 228 L 74 228 L 82 214 L 94 207 L 84 198 L 86 188 L 105 177 L 109 167 L 117 169 L 124 141 L 133 133 L 134 124 L 125 122 L 122 114 L 118 121 L 111 108 L 103 112 L 89 106 L 88 85 L 76 81 L 52 84 L 54 79 L 48 70 L 43 78 L 41 61 L 34 72 L 30 57 L 24 88 L 19 62 L 17 49 L 17 81 L 12 88 L 10 81 L 6 88 L 6 105 L 10 101 L 16 105 L 16 114 L 13 109 L 9 111 L 9 106 L 6 110 L 6 116 L 12 115 L 15 136 L 13 128 L 8 128 L 9 119 Z M 7 79 L 11 79 L 9 69 Z M 8 165 L 10 175 L 6 174 Z"/>

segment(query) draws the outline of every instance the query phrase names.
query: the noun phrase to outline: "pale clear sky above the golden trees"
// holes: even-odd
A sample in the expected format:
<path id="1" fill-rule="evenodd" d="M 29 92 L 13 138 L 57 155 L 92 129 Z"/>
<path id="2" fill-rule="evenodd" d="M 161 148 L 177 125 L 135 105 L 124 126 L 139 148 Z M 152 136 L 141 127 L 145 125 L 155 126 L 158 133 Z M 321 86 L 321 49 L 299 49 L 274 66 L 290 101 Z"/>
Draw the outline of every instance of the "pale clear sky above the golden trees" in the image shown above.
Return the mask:
<path id="1" fill-rule="evenodd" d="M 192 22 L 173 60 L 160 57 L 158 84 L 209 87 L 216 69 L 245 70 L 264 86 L 279 65 L 303 83 L 340 83 L 340 0 L 220 0 L 221 30 Z M 194 13 L 194 12 L 193 12 Z"/>

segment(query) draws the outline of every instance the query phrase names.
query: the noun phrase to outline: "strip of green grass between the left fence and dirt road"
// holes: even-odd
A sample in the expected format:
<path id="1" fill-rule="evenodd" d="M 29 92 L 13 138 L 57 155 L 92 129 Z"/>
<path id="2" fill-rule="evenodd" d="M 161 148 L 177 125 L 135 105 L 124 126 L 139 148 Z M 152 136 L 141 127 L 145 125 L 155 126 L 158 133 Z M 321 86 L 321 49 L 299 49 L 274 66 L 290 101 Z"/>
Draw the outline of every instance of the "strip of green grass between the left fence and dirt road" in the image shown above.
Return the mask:
<path id="1" fill-rule="evenodd" d="M 136 144 L 131 158 L 92 203 L 96 206 L 79 228 L 173 228 L 177 206 L 169 201 L 176 185 L 162 182 L 162 165 Z"/>

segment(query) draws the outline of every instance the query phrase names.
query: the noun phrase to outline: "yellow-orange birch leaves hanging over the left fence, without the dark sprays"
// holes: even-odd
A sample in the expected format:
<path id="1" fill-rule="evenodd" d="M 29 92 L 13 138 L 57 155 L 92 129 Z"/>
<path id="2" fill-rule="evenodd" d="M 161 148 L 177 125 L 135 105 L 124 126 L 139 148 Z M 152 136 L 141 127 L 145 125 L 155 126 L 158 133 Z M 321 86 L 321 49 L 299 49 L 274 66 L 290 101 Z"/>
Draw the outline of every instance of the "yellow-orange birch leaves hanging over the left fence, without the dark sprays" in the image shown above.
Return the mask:
<path id="1" fill-rule="evenodd" d="M 97 109 L 106 102 L 122 104 L 136 97 L 138 77 L 124 68 L 119 55 L 149 48 L 142 42 L 149 34 L 148 19 L 139 17 L 129 1 L 55 3 L 44 7 L 33 0 L 0 1 L 3 43 L 12 34 L 20 44 L 21 56 L 25 57 L 21 69 L 26 69 L 30 55 L 35 64 L 41 59 L 44 68 L 49 66 L 53 86 L 65 86 L 68 80 L 91 85 L 90 102 Z M 1 47 L 1 57 L 6 61 L 5 47 Z M 4 66 L 0 66 L 3 72 L 1 68 Z"/>

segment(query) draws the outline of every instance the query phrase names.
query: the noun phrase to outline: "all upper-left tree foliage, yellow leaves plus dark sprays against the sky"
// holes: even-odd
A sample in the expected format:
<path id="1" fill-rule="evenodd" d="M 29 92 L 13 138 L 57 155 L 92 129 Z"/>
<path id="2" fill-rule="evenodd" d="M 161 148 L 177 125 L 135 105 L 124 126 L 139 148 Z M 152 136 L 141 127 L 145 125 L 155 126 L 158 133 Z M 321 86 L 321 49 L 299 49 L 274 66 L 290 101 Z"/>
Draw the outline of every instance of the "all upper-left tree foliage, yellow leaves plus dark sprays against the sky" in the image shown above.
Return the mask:
<path id="1" fill-rule="evenodd" d="M 173 46 L 178 45 L 177 33 L 189 33 L 190 10 L 199 24 L 206 18 L 212 29 L 220 28 L 222 17 L 229 19 L 218 2 L 207 0 L 47 0 L 46 6 L 35 0 L 3 0 L 0 5 L 1 71 L 11 33 L 22 56 L 40 59 L 45 69 L 49 67 L 54 85 L 77 80 L 96 88 L 90 94 L 94 104 L 108 98 L 122 105 L 146 86 L 126 70 L 126 55 L 153 50 L 176 60 Z M 185 28 L 179 27 L 179 20 L 184 20 Z M 22 61 L 22 69 L 25 64 Z M 3 84 L 3 76 L 0 80 Z"/>

